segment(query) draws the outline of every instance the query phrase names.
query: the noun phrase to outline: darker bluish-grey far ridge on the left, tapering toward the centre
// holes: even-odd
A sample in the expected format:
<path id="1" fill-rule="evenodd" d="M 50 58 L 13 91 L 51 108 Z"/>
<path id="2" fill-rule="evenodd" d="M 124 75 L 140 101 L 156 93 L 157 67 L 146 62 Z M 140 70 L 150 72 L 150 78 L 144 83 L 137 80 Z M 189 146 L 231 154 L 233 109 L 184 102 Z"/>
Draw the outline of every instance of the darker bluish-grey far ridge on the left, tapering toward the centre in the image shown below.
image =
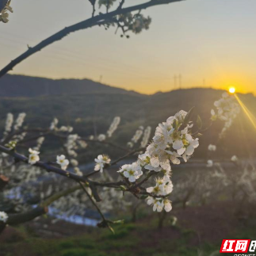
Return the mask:
<path id="1" fill-rule="evenodd" d="M 137 94 L 90 79 L 49 79 L 5 75 L 0 79 L 0 97 L 38 97 L 60 94 Z"/>

